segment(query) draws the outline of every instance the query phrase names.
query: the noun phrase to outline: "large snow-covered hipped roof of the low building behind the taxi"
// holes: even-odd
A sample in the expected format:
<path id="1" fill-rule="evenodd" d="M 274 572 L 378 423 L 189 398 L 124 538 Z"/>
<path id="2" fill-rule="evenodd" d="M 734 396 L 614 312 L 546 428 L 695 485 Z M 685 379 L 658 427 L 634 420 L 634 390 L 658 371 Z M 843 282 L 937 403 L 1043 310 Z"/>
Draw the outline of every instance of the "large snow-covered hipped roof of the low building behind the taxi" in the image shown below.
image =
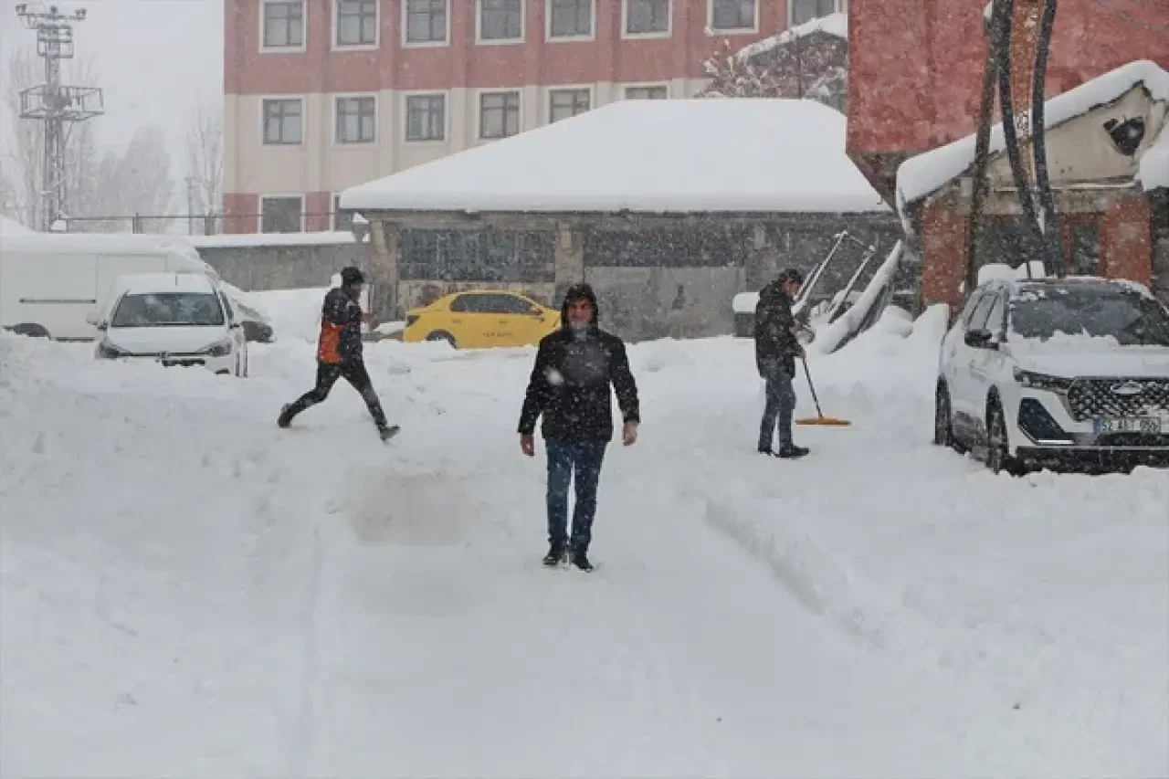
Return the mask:
<path id="1" fill-rule="evenodd" d="M 815 101 L 621 101 L 341 193 L 359 211 L 884 212 Z"/>

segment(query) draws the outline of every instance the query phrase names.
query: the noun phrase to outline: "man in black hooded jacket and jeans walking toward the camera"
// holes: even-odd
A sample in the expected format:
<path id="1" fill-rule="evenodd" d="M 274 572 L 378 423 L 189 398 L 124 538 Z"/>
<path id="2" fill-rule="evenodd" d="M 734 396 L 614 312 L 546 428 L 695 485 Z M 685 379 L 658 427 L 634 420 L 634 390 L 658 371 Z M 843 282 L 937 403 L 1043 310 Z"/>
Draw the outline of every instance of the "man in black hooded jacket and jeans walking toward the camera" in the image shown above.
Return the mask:
<path id="1" fill-rule="evenodd" d="M 575 284 L 565 294 L 560 329 L 540 340 L 519 418 L 519 443 L 525 455 L 535 455 L 535 421 L 544 415 L 541 433 L 548 449 L 548 553 L 545 565 L 559 565 L 570 553 L 582 571 L 593 568 L 588 546 L 593 539 L 596 490 L 604 450 L 613 439 L 616 391 L 624 420 L 622 440 L 637 441 L 641 421 L 637 384 L 629 370 L 625 344 L 597 326 L 596 295 L 588 284 Z M 575 471 L 575 473 L 574 473 Z M 576 505 L 568 537 L 568 484 L 575 475 Z"/>

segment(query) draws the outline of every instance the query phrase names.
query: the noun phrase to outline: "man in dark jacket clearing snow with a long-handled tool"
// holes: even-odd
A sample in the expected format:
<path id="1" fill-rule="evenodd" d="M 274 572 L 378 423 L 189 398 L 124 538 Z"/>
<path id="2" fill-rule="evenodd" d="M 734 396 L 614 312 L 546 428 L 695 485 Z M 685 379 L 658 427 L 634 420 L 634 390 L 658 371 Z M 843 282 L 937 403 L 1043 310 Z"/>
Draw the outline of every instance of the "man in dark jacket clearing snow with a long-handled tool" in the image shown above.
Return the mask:
<path id="1" fill-rule="evenodd" d="M 789 268 L 759 292 L 755 306 L 755 367 L 767 384 L 767 406 L 759 429 L 759 453 L 774 457 L 802 457 L 808 449 L 791 442 L 791 418 L 796 408 L 796 392 L 791 380 L 796 375 L 796 357 L 804 357 L 796 339 L 798 325 L 791 313 L 791 303 L 800 292 L 803 277 Z M 780 448 L 773 449 L 776 422 Z"/>

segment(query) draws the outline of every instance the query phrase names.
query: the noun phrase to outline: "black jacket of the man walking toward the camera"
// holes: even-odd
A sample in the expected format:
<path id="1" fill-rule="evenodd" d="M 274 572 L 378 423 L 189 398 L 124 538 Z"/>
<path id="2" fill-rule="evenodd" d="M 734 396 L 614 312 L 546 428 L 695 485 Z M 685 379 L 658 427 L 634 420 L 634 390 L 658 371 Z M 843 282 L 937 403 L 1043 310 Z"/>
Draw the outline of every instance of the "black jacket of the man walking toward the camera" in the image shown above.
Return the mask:
<path id="1" fill-rule="evenodd" d="M 574 333 L 566 324 L 540 340 L 528 379 L 519 432 L 531 435 L 542 415 L 545 439 L 610 441 L 613 401 L 617 394 L 624 421 L 641 421 L 637 384 L 629 370 L 625 344 L 594 323 Z"/>

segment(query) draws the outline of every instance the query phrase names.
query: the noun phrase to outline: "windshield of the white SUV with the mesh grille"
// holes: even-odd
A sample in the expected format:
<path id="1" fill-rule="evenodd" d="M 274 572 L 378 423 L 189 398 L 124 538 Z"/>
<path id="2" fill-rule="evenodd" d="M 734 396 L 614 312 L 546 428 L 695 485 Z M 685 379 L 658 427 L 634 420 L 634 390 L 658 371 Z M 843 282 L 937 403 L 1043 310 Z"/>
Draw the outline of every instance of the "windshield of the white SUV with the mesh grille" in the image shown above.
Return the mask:
<path id="1" fill-rule="evenodd" d="M 1169 313 L 1125 289 L 1028 290 L 1011 301 L 1011 331 L 1023 338 L 1115 338 L 1122 346 L 1169 346 Z"/>

